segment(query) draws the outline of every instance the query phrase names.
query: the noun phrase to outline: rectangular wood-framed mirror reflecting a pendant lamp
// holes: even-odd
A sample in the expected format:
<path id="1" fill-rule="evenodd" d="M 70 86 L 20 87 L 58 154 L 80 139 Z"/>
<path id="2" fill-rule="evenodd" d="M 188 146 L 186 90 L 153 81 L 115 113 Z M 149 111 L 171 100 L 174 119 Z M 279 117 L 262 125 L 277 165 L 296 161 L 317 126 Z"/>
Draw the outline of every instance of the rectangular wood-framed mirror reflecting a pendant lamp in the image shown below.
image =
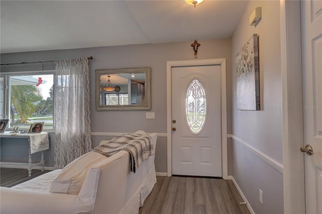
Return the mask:
<path id="1" fill-rule="evenodd" d="M 96 110 L 151 110 L 151 68 L 95 70 Z"/>

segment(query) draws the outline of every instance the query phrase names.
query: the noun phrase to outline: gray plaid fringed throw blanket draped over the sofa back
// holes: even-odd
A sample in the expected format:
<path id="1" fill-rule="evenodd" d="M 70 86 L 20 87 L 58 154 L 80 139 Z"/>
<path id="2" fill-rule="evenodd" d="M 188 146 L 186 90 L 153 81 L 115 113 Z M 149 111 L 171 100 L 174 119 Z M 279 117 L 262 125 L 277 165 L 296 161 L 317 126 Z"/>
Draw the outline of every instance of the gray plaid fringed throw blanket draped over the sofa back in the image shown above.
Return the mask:
<path id="1" fill-rule="evenodd" d="M 130 153 L 130 170 L 135 172 L 139 165 L 149 156 L 154 155 L 152 138 L 137 133 L 120 135 L 111 141 L 93 149 L 102 155 L 110 157 L 125 150 Z"/>

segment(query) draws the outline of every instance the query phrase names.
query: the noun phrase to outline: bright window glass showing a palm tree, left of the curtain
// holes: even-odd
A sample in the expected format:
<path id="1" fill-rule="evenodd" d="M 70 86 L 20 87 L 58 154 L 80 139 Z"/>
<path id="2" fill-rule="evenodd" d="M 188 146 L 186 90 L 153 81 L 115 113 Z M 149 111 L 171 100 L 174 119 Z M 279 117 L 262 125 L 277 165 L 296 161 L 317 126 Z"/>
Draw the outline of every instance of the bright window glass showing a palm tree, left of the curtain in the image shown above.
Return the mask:
<path id="1" fill-rule="evenodd" d="M 32 123 L 44 122 L 44 131 L 53 129 L 54 74 L 37 73 L 1 74 L 0 117 L 10 120 L 9 128 L 29 130 Z"/>

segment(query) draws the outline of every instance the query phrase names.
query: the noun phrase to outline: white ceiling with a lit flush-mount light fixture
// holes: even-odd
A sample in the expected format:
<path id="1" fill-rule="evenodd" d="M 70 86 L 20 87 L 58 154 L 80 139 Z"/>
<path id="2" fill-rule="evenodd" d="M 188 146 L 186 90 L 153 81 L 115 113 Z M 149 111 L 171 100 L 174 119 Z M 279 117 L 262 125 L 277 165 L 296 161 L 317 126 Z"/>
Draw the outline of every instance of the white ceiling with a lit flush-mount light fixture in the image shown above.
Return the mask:
<path id="1" fill-rule="evenodd" d="M 0 1 L 1 53 L 230 38 L 248 1 Z"/>

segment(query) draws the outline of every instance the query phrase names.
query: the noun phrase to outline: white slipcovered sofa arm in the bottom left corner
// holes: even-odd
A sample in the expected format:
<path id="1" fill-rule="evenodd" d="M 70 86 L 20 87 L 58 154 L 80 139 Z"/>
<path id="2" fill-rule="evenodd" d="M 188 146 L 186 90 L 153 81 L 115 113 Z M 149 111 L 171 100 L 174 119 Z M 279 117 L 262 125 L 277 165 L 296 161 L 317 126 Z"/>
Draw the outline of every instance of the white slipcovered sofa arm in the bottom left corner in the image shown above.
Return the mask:
<path id="1" fill-rule="evenodd" d="M 76 213 L 74 201 L 77 195 L 38 192 L 0 187 L 0 212 L 13 213 Z"/>

